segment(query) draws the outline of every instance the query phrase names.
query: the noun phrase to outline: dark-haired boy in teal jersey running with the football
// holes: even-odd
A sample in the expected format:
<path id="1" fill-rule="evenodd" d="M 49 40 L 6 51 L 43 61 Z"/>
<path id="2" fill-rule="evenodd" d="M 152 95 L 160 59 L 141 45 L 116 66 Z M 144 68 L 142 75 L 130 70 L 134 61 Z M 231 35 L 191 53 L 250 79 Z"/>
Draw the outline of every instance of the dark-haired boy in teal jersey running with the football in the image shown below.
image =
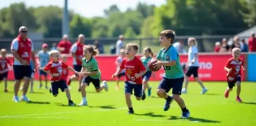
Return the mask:
<path id="1" fill-rule="evenodd" d="M 155 67 L 160 68 L 162 65 L 164 67 L 164 77 L 161 80 L 157 95 L 160 98 L 165 98 L 166 102 L 164 105 L 164 111 L 167 111 L 173 99 L 179 104 L 182 109 L 182 117 L 190 117 L 190 111 L 186 109 L 185 102 L 183 98 L 180 97 L 183 88 L 184 73 L 182 66 L 179 61 L 179 54 L 174 46 L 172 46 L 175 39 L 175 31 L 164 30 L 160 32 L 160 46 L 163 46 L 156 56 L 159 60 L 156 62 Z M 172 88 L 172 95 L 168 95 L 168 92 Z"/>

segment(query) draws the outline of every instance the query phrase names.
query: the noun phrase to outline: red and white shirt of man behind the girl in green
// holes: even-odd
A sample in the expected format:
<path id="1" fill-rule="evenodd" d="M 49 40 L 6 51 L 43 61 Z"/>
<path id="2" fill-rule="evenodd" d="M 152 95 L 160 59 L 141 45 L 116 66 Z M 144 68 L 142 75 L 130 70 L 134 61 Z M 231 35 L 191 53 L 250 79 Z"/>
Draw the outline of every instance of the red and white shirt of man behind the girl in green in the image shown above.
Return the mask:
<path id="1" fill-rule="evenodd" d="M 71 53 L 74 53 L 77 55 L 77 57 L 83 58 L 83 47 L 85 45 L 81 44 L 79 42 L 74 43 L 73 46 L 71 47 Z M 82 62 L 78 60 L 77 58 L 73 58 L 73 65 L 82 65 Z"/>

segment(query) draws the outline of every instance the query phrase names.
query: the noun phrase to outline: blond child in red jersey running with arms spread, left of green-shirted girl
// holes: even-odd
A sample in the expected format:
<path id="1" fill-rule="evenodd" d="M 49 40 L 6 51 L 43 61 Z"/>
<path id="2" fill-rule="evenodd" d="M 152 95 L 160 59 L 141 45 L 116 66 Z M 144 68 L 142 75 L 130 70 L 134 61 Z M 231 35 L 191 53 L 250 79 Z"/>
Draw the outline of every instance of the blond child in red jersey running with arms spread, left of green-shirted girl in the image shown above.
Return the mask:
<path id="1" fill-rule="evenodd" d="M 51 50 L 50 57 L 52 61 L 50 61 L 46 66 L 43 68 L 40 68 L 40 70 L 43 70 L 44 72 L 49 71 L 51 73 L 51 89 L 50 92 L 52 92 L 52 95 L 57 97 L 58 95 L 58 88 L 60 88 L 63 91 L 66 91 L 66 97 L 69 100 L 69 106 L 75 106 L 76 104 L 73 103 L 70 97 L 70 90 L 66 86 L 65 79 L 62 76 L 63 69 L 70 69 L 75 74 L 79 75 L 79 72 L 76 72 L 74 69 L 72 69 L 70 66 L 66 65 L 66 63 L 59 60 L 59 52 L 58 50 Z"/>

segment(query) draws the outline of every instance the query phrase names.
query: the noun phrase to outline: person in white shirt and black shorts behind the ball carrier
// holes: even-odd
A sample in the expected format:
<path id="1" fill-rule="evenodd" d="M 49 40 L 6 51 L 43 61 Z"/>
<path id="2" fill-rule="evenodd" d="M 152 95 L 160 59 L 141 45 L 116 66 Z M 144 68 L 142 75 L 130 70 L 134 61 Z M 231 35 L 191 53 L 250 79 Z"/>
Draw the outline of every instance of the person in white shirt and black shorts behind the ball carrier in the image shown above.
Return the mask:
<path id="1" fill-rule="evenodd" d="M 199 69 L 199 61 L 198 61 L 198 43 L 196 39 L 189 38 L 188 45 L 190 46 L 188 50 L 188 60 L 186 63 L 186 77 L 185 77 L 185 88 L 183 88 L 183 94 L 187 93 L 187 85 L 189 83 L 189 78 L 193 74 L 194 80 L 196 80 L 202 88 L 201 94 L 205 94 L 208 90 L 205 88 L 201 80 L 198 78 L 198 69 Z"/>

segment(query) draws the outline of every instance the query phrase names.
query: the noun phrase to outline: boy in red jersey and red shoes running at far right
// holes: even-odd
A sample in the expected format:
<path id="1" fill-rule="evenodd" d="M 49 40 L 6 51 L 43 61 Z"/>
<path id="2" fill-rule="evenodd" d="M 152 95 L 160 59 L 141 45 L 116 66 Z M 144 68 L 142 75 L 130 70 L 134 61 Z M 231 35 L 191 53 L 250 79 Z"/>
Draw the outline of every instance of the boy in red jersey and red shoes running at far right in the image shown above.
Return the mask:
<path id="1" fill-rule="evenodd" d="M 241 50 L 237 47 L 235 47 L 232 50 L 232 58 L 228 59 L 224 69 L 228 72 L 227 74 L 227 81 L 228 81 L 228 88 L 225 91 L 225 98 L 228 98 L 228 94 L 230 91 L 232 91 L 233 87 L 236 83 L 236 101 L 242 102 L 241 98 L 239 97 L 241 92 L 241 69 L 243 68 L 243 71 L 246 71 L 244 69 L 244 63 L 240 56 Z"/>

